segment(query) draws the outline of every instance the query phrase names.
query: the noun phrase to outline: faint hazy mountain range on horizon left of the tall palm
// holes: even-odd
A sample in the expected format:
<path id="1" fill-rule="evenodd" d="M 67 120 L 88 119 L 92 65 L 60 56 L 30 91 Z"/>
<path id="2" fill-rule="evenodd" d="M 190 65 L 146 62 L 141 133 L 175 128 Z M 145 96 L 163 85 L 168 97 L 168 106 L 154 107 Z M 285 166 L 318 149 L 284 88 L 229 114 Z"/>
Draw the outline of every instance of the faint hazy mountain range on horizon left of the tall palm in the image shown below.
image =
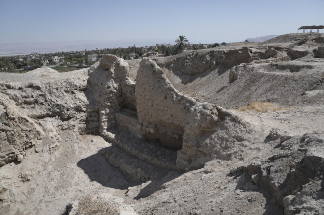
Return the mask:
<path id="1" fill-rule="evenodd" d="M 92 50 L 96 48 L 117 48 L 128 46 L 155 46 L 159 44 L 173 45 L 171 39 L 142 39 L 142 40 L 75 40 L 58 42 L 36 42 L 36 43 L 7 43 L 0 44 L 0 55 L 25 55 L 30 53 Z"/>

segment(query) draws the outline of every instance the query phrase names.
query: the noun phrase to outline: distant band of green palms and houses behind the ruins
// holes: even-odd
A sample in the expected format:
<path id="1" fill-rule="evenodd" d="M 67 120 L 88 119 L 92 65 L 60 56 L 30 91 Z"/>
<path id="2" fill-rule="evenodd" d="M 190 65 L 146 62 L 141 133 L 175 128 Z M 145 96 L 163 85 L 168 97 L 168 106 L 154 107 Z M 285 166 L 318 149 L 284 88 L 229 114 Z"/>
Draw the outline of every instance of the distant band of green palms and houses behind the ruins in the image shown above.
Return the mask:
<path id="1" fill-rule="evenodd" d="M 246 41 L 247 42 L 247 41 Z M 48 60 L 48 65 L 54 65 L 54 69 L 56 69 L 59 72 L 66 72 L 66 71 L 72 71 L 76 68 L 71 67 L 64 67 L 66 63 L 70 63 L 70 65 L 78 64 L 81 65 L 82 63 L 86 63 L 88 66 L 91 66 L 95 62 L 88 62 L 87 56 L 91 54 L 97 54 L 97 59 L 99 60 L 102 55 L 104 54 L 111 54 L 116 55 L 118 57 L 122 57 L 125 60 L 129 59 L 138 59 L 142 57 L 148 57 L 146 54 L 147 52 L 156 52 L 159 54 L 163 54 L 165 56 L 170 55 L 177 55 L 182 52 L 182 50 L 197 50 L 197 49 L 204 49 L 204 48 L 211 48 L 219 46 L 218 43 L 214 44 L 189 44 L 188 39 L 180 35 L 176 38 L 174 46 L 145 46 L 145 47 L 136 47 L 134 46 L 128 46 L 127 48 L 103 48 L 103 49 L 94 49 L 94 50 L 81 50 L 81 51 L 70 51 L 70 52 L 55 52 L 55 53 L 44 53 L 44 54 L 37 54 L 33 53 L 30 55 L 16 55 L 16 56 L 3 56 L 0 57 L 0 72 L 13 72 L 13 73 L 25 73 L 29 70 L 39 68 L 41 67 L 41 60 Z M 223 42 L 221 45 L 226 45 L 225 42 Z M 59 56 L 64 57 L 64 63 L 58 63 L 59 66 L 56 67 L 56 63 L 53 62 L 53 57 Z M 27 68 L 27 71 L 24 69 Z"/>

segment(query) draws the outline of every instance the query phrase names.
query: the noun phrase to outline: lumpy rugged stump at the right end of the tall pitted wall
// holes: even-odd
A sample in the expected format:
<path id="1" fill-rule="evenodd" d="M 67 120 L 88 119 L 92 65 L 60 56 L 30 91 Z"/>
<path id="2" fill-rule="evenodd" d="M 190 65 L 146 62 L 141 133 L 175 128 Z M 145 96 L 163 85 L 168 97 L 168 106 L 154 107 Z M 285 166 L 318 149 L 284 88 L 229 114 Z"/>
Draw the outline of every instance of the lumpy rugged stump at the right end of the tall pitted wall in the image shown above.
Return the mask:
<path id="1" fill-rule="evenodd" d="M 212 159 L 242 159 L 242 148 L 255 137 L 253 127 L 233 112 L 210 103 L 191 108 L 177 152 L 179 169 L 201 168 Z"/>

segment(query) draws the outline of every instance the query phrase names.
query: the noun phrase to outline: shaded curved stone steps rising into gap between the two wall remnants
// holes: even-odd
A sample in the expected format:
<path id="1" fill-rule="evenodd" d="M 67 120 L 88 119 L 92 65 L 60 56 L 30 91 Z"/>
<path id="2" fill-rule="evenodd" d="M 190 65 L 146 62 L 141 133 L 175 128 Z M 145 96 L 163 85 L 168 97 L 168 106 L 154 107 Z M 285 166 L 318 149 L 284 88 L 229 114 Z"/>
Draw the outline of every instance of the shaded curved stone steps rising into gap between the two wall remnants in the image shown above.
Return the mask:
<path id="1" fill-rule="evenodd" d="M 142 138 L 136 130 L 138 118 L 135 110 L 122 108 L 115 113 L 115 121 L 119 129 L 102 133 L 112 146 L 99 151 L 114 167 L 129 178 L 142 181 L 177 170 L 177 150 Z"/>

